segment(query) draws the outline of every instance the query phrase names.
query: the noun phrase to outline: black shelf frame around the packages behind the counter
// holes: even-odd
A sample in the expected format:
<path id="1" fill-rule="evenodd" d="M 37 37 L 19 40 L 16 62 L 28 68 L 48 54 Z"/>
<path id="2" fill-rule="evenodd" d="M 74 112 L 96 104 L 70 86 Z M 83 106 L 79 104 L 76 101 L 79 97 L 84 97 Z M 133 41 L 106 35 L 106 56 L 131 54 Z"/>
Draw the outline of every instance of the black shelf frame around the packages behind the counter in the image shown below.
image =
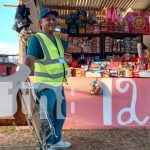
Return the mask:
<path id="1" fill-rule="evenodd" d="M 134 38 L 139 38 L 140 39 L 140 42 L 143 41 L 143 35 L 142 34 L 131 34 L 131 33 L 121 33 L 121 32 L 100 32 L 99 34 L 69 34 L 70 37 L 89 37 L 90 38 L 93 38 L 93 37 L 99 37 L 99 53 L 85 53 L 85 57 L 88 57 L 88 56 L 100 56 L 101 59 L 105 59 L 107 55 L 119 55 L 119 56 L 122 56 L 123 54 L 125 53 L 130 53 L 130 54 L 135 54 L 136 56 L 138 56 L 138 52 L 132 52 L 132 49 L 129 47 L 128 49 L 126 49 L 126 42 L 125 45 L 121 46 L 119 45 L 120 47 L 123 47 L 124 49 L 124 52 L 113 52 L 113 48 L 112 46 L 114 46 L 114 43 L 109 43 L 108 45 L 110 45 L 111 47 L 111 50 L 110 52 L 105 52 L 105 47 L 106 47 L 106 43 L 105 43 L 105 40 L 106 40 L 106 37 L 110 37 L 112 38 L 113 40 L 117 40 L 117 39 L 120 39 L 120 40 L 126 40 L 127 38 L 131 38 L 131 40 L 133 40 Z M 130 40 L 129 40 L 130 41 Z M 138 41 L 139 42 L 139 41 Z M 120 43 L 122 44 L 122 43 Z M 132 45 L 132 43 L 130 43 Z M 107 45 L 107 46 L 108 46 Z M 117 51 L 122 51 L 122 50 L 117 50 Z M 80 53 L 72 53 L 72 56 L 73 57 L 78 57 L 80 56 Z"/>

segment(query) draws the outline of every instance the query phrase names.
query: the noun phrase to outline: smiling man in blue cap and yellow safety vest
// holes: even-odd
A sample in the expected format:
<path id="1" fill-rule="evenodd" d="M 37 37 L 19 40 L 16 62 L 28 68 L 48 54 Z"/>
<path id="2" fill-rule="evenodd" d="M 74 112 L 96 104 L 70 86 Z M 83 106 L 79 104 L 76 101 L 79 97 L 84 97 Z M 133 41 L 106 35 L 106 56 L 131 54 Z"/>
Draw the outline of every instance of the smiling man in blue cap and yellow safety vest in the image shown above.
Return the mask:
<path id="1" fill-rule="evenodd" d="M 52 147 L 68 148 L 69 142 L 61 139 L 61 130 L 66 117 L 66 99 L 63 82 L 67 82 L 67 64 L 64 51 L 68 48 L 80 50 L 67 41 L 53 35 L 58 12 L 44 8 L 39 14 L 41 31 L 31 36 L 25 64 L 34 72 L 34 89 L 38 99 L 47 98 L 47 111 L 55 128 L 56 136 L 46 133 L 47 144 Z M 59 112 L 59 113 L 58 113 Z"/>

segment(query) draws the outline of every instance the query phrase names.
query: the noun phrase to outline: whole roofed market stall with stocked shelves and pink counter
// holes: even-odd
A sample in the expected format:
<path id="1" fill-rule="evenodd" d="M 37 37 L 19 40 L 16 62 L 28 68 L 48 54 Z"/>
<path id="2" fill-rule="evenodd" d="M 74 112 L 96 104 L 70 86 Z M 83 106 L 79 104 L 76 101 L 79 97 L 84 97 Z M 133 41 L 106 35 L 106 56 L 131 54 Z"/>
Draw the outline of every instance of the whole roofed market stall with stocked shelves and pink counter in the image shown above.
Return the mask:
<path id="1" fill-rule="evenodd" d="M 143 43 L 143 35 L 149 38 L 150 34 L 147 0 L 35 0 L 24 4 L 30 8 L 32 22 L 25 28 L 32 31 L 28 34 L 38 30 L 39 10 L 49 7 L 59 12 L 60 32 L 56 34 L 85 45 L 82 51 L 70 49 L 66 54 L 65 128 L 149 126 L 150 47 Z M 128 8 L 132 9 L 128 12 Z M 20 34 L 22 61 L 26 35 Z"/>

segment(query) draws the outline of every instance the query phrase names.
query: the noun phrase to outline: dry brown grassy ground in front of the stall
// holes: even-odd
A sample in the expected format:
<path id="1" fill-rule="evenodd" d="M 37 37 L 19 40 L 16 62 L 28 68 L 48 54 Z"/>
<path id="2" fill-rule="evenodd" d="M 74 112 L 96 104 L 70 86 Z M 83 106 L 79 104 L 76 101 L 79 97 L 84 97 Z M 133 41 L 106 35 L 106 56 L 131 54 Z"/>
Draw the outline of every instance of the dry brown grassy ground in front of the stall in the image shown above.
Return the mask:
<path id="1" fill-rule="evenodd" d="M 149 129 L 63 130 L 63 139 L 72 143 L 69 150 L 150 150 Z M 35 145 L 28 128 L 0 127 L 0 147 L 20 145 Z"/>

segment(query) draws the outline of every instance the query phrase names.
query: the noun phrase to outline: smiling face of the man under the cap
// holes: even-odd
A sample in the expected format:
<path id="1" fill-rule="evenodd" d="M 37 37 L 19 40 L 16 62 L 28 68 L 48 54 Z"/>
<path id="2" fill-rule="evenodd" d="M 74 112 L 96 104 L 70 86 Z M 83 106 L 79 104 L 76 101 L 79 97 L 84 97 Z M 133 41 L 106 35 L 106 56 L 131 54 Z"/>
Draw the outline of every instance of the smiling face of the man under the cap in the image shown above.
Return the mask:
<path id="1" fill-rule="evenodd" d="M 48 14 L 40 21 L 42 30 L 47 33 L 52 33 L 56 28 L 56 17 L 52 14 Z"/>

